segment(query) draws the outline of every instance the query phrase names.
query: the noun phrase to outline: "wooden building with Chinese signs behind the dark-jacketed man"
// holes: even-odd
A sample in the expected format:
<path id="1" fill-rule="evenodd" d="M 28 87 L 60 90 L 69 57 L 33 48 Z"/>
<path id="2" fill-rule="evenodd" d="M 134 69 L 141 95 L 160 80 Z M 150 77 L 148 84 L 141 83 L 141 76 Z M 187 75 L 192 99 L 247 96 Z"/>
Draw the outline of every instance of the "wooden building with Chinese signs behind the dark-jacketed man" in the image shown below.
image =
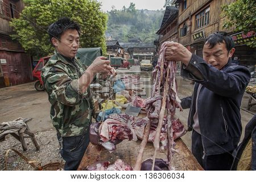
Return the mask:
<path id="1" fill-rule="evenodd" d="M 163 35 L 159 39 L 159 44 L 166 40 L 171 40 L 174 35 L 175 29 L 171 32 L 171 28 L 167 29 L 168 26 L 176 24 L 177 21 L 177 31 L 176 38 L 177 42 L 183 44 L 192 53 L 203 57 L 203 46 L 204 40 L 210 34 L 216 31 L 227 31 L 230 35 L 234 34 L 234 39 L 237 37 L 235 35 L 242 32 L 234 32 L 234 27 L 228 30 L 222 28 L 225 18 L 221 16 L 221 5 L 230 4 L 235 0 L 175 0 L 173 5 L 179 9 L 177 20 L 169 20 L 166 22 L 165 26 L 159 29 L 158 33 Z M 168 11 L 166 12 L 168 13 Z M 164 18 L 163 18 L 164 20 Z M 164 35 L 164 31 L 170 32 L 170 34 Z M 253 34 L 255 38 L 255 32 Z M 246 37 L 247 35 L 243 35 Z M 236 52 L 234 57 L 240 60 L 242 65 L 254 65 L 256 64 L 255 59 L 255 48 L 250 48 L 242 43 L 236 44 Z"/>

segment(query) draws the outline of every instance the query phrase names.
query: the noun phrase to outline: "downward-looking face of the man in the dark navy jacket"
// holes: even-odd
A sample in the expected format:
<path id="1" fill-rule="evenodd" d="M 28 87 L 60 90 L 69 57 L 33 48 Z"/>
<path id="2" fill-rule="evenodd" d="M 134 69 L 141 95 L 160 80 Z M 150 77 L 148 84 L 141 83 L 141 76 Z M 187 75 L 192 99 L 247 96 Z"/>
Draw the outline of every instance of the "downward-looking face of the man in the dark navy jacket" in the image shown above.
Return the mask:
<path id="1" fill-rule="evenodd" d="M 217 43 L 210 49 L 209 44 L 204 44 L 203 58 L 207 61 L 207 64 L 213 65 L 217 69 L 222 69 L 229 61 L 229 57 L 232 57 L 235 49 L 230 51 L 226 49 L 225 42 Z"/>

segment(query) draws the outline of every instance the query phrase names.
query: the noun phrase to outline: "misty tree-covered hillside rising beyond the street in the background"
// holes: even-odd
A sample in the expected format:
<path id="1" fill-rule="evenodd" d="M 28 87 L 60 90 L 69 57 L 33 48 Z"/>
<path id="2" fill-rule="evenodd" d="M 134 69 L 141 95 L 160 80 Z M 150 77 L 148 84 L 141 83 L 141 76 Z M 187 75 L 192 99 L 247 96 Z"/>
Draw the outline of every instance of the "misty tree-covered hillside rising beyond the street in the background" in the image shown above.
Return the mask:
<path id="1" fill-rule="evenodd" d="M 137 10 L 135 4 L 123 6 L 122 10 L 108 11 L 107 35 L 119 42 L 128 42 L 129 39 L 140 38 L 142 42 L 154 42 L 155 34 L 162 23 L 164 10 Z"/>

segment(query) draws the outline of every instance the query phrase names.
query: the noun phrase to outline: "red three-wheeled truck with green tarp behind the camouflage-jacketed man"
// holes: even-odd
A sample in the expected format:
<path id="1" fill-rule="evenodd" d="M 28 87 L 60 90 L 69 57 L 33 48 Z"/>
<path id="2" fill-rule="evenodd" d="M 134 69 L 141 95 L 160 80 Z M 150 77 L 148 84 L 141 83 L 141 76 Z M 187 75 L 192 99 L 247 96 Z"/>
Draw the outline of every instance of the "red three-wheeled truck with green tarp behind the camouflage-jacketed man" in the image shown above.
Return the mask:
<path id="1" fill-rule="evenodd" d="M 98 56 L 102 56 L 102 50 L 100 47 L 96 48 L 79 48 L 76 56 L 79 57 L 80 61 L 89 66 L 92 64 L 94 59 Z M 36 67 L 34 68 L 32 75 L 36 78 L 35 81 L 35 89 L 38 91 L 45 90 L 44 84 L 41 78 L 41 72 L 44 65 L 46 65 L 47 61 L 49 60 L 51 56 L 42 57 L 39 59 L 38 64 L 36 64 Z"/>

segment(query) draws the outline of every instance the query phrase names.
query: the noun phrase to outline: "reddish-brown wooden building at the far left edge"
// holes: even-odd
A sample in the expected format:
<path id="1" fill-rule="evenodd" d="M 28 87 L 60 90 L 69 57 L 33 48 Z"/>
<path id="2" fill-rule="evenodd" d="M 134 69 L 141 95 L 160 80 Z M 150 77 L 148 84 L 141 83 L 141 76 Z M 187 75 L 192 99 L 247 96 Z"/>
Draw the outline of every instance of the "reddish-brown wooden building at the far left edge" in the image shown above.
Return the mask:
<path id="1" fill-rule="evenodd" d="M 22 1 L 0 0 L 0 88 L 32 81 L 31 56 L 10 38 L 9 22 L 18 18 L 24 8 Z"/>

